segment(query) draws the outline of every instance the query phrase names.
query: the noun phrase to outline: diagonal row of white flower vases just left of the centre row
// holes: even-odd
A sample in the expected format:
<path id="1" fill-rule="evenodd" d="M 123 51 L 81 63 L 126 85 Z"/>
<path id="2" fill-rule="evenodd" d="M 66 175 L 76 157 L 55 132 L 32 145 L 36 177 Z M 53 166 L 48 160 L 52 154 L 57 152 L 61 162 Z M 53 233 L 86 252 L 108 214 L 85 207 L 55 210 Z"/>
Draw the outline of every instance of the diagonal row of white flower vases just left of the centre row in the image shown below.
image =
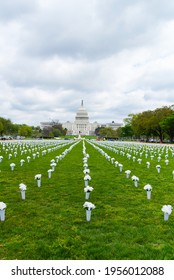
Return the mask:
<path id="1" fill-rule="evenodd" d="M 70 142 L 71 143 L 71 142 Z M 69 144 L 69 143 L 68 143 Z M 72 150 L 72 148 L 76 145 L 76 144 L 78 144 L 78 142 L 76 142 L 76 143 L 74 143 L 73 145 L 71 145 L 68 149 L 66 149 L 64 152 L 62 152 L 62 154 L 60 155 L 60 156 L 56 156 L 56 161 L 58 162 L 58 160 L 60 159 L 63 159 L 66 155 L 67 155 L 67 153 L 68 152 L 70 152 L 71 150 Z M 67 142 L 66 142 L 66 144 L 61 144 L 61 146 L 60 147 L 63 147 L 63 146 L 65 146 L 65 145 L 67 145 Z M 46 150 L 45 150 L 46 151 Z M 44 155 L 46 154 L 46 152 L 44 153 Z M 2 162 L 2 159 L 3 159 L 3 157 L 1 156 L 1 162 Z M 53 163 L 55 163 L 55 161 L 53 161 L 53 160 L 51 160 L 51 167 L 52 167 L 52 171 L 54 171 L 55 170 L 55 165 L 56 164 L 53 164 Z M 49 175 L 48 175 L 49 176 Z M 41 186 L 41 177 L 42 177 L 42 174 L 36 174 L 35 175 L 35 180 L 37 181 L 37 186 L 38 187 L 40 187 Z M 20 183 L 19 184 L 19 190 L 20 190 L 20 192 L 21 192 L 21 198 L 22 198 L 22 200 L 25 200 L 25 198 L 26 198 L 26 195 L 25 195 L 25 193 L 26 193 L 26 190 L 27 190 L 27 186 L 24 184 L 24 183 Z M 5 220 L 5 210 L 6 210 L 6 208 L 7 208 L 7 205 L 6 205 L 6 203 L 4 203 L 4 202 L 0 202 L 0 221 L 4 221 Z"/>

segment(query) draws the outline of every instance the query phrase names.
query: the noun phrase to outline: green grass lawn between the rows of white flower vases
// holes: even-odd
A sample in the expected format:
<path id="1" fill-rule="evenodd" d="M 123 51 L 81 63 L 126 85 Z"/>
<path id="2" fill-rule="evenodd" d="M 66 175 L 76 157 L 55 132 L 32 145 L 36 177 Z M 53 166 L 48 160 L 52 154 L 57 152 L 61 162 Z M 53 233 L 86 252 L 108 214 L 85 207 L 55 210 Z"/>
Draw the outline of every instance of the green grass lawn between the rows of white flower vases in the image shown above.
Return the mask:
<path id="1" fill-rule="evenodd" d="M 6 153 L 1 146 L 0 155 L 4 158 L 0 163 L 0 201 L 5 202 L 7 208 L 5 221 L 0 222 L 0 259 L 174 259 L 173 213 L 166 222 L 161 211 L 164 204 L 174 205 L 174 158 L 171 150 L 169 166 L 166 166 L 164 147 L 161 173 L 158 174 L 155 168 L 157 156 L 153 160 L 149 157 L 146 159 L 144 152 L 142 164 L 127 159 L 127 149 L 133 153 L 134 144 L 116 143 L 118 154 L 101 147 L 123 164 L 123 171 L 120 172 L 118 167 L 85 141 L 86 152 L 90 155 L 90 185 L 94 187 L 89 201 L 96 205 L 91 221 L 87 222 L 83 209 L 83 141 L 58 162 L 51 179 L 47 175 L 50 160 L 71 145 L 66 142 L 67 146 L 52 150 L 45 156 L 40 155 L 35 160 L 31 158 L 31 162 L 25 161 L 22 167 L 20 159 L 26 160 L 32 152 L 20 155 L 18 147 L 17 157 L 9 160 L 9 150 Z M 43 142 L 36 143 L 38 149 Z M 55 142 L 50 143 L 53 146 Z M 123 145 L 124 156 L 120 154 Z M 144 147 L 140 146 L 139 152 Z M 158 152 L 158 146 L 155 149 Z M 139 154 L 136 155 L 136 158 L 139 157 Z M 151 162 L 149 169 L 146 167 L 147 160 Z M 10 170 L 11 162 L 16 163 L 14 171 Z M 131 170 L 131 176 L 139 177 L 138 188 L 134 187 L 130 178 L 125 178 L 127 169 Z M 37 173 L 42 174 L 40 188 L 34 180 Z M 25 201 L 22 201 L 19 192 L 21 182 L 27 185 Z M 146 184 L 153 187 L 151 200 L 146 198 L 143 189 Z"/>

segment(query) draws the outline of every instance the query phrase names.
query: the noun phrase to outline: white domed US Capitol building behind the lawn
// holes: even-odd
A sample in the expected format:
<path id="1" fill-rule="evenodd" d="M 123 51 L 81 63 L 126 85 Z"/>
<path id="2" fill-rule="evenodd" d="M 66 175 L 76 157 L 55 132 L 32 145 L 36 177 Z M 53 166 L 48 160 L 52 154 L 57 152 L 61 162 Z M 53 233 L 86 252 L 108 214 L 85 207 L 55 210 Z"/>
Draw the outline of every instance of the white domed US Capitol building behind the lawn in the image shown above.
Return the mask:
<path id="1" fill-rule="evenodd" d="M 40 127 L 43 129 L 44 127 L 52 126 L 53 122 L 41 122 Z M 75 121 L 74 122 L 65 122 L 62 123 L 62 127 L 67 129 L 66 135 L 95 135 L 95 130 L 98 127 L 111 127 L 112 129 L 117 129 L 122 126 L 120 123 L 115 123 L 112 121 L 111 123 L 99 124 L 98 122 L 90 123 L 88 112 L 86 111 L 83 100 L 81 101 L 81 106 L 77 110 Z"/>

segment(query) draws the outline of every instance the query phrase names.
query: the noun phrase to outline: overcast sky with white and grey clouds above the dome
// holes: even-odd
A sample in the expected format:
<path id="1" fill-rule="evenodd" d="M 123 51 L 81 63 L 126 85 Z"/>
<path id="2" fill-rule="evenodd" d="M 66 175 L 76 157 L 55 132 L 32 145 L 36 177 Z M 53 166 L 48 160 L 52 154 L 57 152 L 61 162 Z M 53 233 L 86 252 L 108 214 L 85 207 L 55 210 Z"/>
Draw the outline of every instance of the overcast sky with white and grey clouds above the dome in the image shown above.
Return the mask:
<path id="1" fill-rule="evenodd" d="M 0 2 L 0 116 L 90 121 L 174 104 L 173 0 Z"/>

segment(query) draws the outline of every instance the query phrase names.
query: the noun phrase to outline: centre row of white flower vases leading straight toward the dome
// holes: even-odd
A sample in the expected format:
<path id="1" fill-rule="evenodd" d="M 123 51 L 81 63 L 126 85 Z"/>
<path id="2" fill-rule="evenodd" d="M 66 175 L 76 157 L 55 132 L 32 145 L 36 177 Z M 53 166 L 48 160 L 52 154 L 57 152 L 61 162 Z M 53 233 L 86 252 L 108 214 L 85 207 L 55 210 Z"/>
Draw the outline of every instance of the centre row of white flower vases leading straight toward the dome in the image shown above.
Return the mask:
<path id="1" fill-rule="evenodd" d="M 88 158 L 89 154 L 86 153 L 86 146 L 85 142 L 83 141 L 83 173 L 84 173 L 84 192 L 85 192 L 85 199 L 88 200 L 90 193 L 94 190 L 93 187 L 89 186 L 89 181 L 91 180 L 91 176 L 89 175 L 90 169 L 88 167 Z M 92 202 L 86 201 L 83 204 L 83 207 L 86 209 L 86 220 L 89 222 L 91 220 L 91 210 L 95 208 L 95 205 Z"/>

